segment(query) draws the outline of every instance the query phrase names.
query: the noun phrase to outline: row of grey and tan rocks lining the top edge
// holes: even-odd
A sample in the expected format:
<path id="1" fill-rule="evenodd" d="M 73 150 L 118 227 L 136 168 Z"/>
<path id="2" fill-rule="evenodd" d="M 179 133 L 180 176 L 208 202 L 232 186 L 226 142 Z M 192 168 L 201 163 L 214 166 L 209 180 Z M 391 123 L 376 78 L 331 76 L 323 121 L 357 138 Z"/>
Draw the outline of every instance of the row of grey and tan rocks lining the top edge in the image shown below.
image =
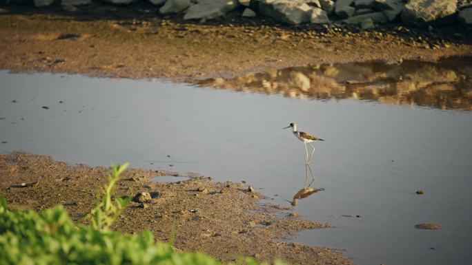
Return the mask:
<path id="1" fill-rule="evenodd" d="M 65 10 L 92 0 L 59 0 Z M 240 10 L 242 17 L 271 17 L 281 23 L 358 25 L 364 30 L 376 24 L 398 21 L 419 27 L 460 23 L 472 25 L 472 0 L 101 0 L 112 5 L 149 1 L 160 14 L 182 15 L 185 20 L 206 21 Z M 57 0 L 7 0 L 9 4 L 51 6 Z"/>

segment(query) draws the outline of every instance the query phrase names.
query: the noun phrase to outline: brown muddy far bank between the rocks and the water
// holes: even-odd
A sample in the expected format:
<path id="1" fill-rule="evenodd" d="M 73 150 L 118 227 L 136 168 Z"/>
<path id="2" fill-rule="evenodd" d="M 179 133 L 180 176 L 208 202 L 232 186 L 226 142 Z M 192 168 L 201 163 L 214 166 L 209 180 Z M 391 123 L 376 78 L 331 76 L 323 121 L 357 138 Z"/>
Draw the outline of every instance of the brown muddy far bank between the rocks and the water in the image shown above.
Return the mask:
<path id="1" fill-rule="evenodd" d="M 0 68 L 192 81 L 311 63 L 436 61 L 472 54 L 467 28 L 389 23 L 360 31 L 281 25 L 239 13 L 196 23 L 159 15 L 157 9 L 145 3 L 93 4 L 77 12 L 0 6 Z"/>

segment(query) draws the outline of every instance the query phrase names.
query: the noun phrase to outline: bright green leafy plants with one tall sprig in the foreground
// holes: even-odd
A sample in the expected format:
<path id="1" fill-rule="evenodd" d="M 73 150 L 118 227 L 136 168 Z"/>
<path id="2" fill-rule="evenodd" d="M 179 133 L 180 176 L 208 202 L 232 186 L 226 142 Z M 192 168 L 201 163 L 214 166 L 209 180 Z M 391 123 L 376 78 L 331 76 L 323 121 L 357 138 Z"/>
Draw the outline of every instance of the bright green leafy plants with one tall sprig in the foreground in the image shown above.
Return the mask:
<path id="1" fill-rule="evenodd" d="M 204 253 L 177 253 L 172 243 L 155 242 L 149 231 L 130 235 L 109 229 L 130 202 L 130 198 L 112 200 L 115 184 L 126 167 L 128 163 L 112 165 L 108 183 L 87 216 L 90 226 L 76 225 L 61 205 L 39 213 L 10 211 L 5 198 L 0 197 L 0 264 L 222 265 Z M 244 257 L 238 264 L 259 265 Z M 279 261 L 274 264 L 283 265 Z"/>

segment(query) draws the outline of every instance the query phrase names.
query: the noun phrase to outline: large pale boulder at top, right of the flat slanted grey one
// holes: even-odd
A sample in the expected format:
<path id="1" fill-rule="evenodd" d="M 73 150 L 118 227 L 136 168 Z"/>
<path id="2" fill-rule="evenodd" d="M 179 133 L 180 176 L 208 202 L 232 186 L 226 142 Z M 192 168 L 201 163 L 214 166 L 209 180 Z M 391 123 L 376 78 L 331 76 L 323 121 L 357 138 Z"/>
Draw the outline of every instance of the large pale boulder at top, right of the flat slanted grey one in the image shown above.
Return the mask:
<path id="1" fill-rule="evenodd" d="M 304 1 L 291 0 L 261 0 L 259 14 L 282 23 L 301 24 L 310 21 L 311 6 Z"/>

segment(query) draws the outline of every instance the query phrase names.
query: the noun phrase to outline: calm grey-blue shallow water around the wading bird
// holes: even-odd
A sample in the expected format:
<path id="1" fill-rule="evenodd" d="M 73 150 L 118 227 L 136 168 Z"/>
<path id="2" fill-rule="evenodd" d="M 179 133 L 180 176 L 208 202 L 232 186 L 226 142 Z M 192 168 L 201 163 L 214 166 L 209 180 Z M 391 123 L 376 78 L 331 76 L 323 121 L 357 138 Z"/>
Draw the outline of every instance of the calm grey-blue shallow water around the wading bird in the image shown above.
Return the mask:
<path id="1" fill-rule="evenodd" d="M 357 264 L 469 264 L 472 113 L 463 109 L 470 109 L 464 102 L 471 88 L 462 82 L 470 76 L 453 72 L 459 81 L 443 85 L 462 96 L 444 102 L 460 102 L 457 108 L 0 72 L 0 151 L 246 180 L 290 206 L 304 186 L 305 150 L 282 127 L 296 122 L 325 140 L 315 143 L 312 162 L 312 187 L 325 190 L 299 199 L 295 209 L 338 227 L 304 231 L 295 241 L 346 248 Z M 422 222 L 442 229 L 414 228 Z"/>

